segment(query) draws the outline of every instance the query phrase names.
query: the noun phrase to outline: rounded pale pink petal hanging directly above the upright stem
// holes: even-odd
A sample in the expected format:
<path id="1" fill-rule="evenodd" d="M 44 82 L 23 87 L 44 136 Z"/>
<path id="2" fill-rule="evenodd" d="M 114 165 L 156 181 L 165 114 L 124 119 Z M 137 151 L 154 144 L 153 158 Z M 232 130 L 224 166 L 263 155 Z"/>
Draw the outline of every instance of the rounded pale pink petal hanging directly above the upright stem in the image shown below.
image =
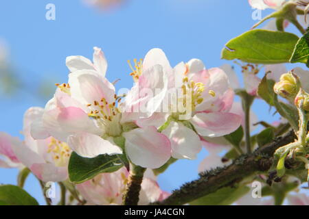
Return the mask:
<path id="1" fill-rule="evenodd" d="M 159 168 L 171 156 L 170 140 L 155 127 L 133 129 L 123 133 L 130 160 L 145 168 Z"/>

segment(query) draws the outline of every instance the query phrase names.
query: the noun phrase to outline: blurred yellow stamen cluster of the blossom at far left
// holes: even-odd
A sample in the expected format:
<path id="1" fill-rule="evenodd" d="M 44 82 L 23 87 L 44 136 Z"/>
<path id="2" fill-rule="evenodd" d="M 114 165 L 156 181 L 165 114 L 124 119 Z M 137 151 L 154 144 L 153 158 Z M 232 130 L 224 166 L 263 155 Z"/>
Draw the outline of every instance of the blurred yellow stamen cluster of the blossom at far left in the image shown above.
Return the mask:
<path id="1" fill-rule="evenodd" d="M 47 153 L 52 154 L 56 166 L 67 166 L 67 162 L 71 155 L 71 149 L 67 143 L 52 138 L 51 142 L 48 144 Z"/>

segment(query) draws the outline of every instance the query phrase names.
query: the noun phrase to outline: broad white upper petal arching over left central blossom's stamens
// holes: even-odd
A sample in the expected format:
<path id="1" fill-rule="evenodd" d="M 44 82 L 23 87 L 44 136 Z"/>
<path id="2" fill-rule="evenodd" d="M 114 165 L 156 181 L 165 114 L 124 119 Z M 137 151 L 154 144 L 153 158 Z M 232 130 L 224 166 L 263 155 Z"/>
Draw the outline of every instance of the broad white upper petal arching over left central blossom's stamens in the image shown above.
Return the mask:
<path id="1" fill-rule="evenodd" d="M 106 99 L 109 104 L 115 101 L 115 87 L 94 70 L 78 70 L 69 74 L 71 97 L 82 104 Z"/>

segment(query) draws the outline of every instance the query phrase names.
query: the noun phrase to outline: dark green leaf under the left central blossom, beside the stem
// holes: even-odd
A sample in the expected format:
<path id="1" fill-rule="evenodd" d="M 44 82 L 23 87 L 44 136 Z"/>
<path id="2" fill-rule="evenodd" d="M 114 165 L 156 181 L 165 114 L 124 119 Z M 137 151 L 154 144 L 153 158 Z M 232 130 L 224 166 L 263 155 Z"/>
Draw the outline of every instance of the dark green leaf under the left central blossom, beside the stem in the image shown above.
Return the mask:
<path id="1" fill-rule="evenodd" d="M 123 164 L 117 155 L 86 158 L 73 152 L 69 160 L 69 179 L 73 183 L 82 183 L 102 172 L 115 172 L 122 166 Z"/>

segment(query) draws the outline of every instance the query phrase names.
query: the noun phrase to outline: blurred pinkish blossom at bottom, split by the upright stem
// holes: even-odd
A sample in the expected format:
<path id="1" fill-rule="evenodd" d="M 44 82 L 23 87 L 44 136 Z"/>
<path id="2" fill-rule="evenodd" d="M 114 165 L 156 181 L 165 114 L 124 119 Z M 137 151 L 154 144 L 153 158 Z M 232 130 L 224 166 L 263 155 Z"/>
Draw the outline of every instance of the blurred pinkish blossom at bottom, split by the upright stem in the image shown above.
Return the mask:
<path id="1" fill-rule="evenodd" d="M 122 195 L 126 190 L 127 181 L 128 170 L 121 168 L 116 172 L 102 173 L 76 185 L 76 188 L 86 199 L 87 205 L 122 205 Z M 159 188 L 155 177 L 148 177 L 146 174 L 141 183 L 139 205 L 161 201 L 168 195 Z"/>

